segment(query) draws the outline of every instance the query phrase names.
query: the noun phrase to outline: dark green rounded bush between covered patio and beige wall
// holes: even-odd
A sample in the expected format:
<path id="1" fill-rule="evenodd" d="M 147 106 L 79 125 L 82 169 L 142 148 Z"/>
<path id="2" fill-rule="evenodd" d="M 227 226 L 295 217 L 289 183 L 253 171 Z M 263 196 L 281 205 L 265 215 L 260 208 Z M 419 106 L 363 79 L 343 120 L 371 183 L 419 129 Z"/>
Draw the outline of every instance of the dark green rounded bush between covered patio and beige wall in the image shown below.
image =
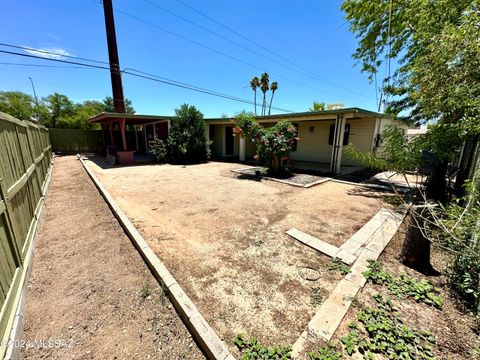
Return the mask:
<path id="1" fill-rule="evenodd" d="M 173 163 L 200 163 L 210 158 L 203 114 L 195 106 L 175 109 L 167 139 L 168 158 Z"/>

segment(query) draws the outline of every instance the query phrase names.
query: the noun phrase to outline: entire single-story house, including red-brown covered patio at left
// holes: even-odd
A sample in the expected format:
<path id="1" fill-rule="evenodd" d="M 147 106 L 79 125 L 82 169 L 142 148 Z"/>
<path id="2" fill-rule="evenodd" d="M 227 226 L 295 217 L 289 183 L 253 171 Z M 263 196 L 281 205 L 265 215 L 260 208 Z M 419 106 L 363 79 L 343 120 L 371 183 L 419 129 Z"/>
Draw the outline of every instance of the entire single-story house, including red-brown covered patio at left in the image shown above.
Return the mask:
<path id="1" fill-rule="evenodd" d="M 89 121 L 101 124 L 105 130 L 105 146 L 116 145 L 119 149 L 118 160 L 128 162 L 133 161 L 134 152 L 146 153 L 149 141 L 167 137 L 170 119 L 168 116 L 101 113 Z M 273 126 L 280 120 L 290 121 L 300 137 L 290 153 L 290 159 L 294 162 L 324 164 L 332 174 L 338 174 L 342 166 L 361 165 L 343 154 L 343 147 L 347 144 L 370 152 L 381 146 L 381 134 L 386 126 L 395 124 L 405 131 L 408 128 L 389 115 L 360 108 L 257 116 L 256 120 L 263 126 Z M 205 135 L 211 141 L 212 158 L 239 161 L 253 158 L 255 144 L 249 138 L 233 135 L 233 119 L 209 118 L 205 122 Z M 125 130 L 127 126 L 136 129 L 129 141 Z M 115 133 L 121 136 L 116 139 Z"/>

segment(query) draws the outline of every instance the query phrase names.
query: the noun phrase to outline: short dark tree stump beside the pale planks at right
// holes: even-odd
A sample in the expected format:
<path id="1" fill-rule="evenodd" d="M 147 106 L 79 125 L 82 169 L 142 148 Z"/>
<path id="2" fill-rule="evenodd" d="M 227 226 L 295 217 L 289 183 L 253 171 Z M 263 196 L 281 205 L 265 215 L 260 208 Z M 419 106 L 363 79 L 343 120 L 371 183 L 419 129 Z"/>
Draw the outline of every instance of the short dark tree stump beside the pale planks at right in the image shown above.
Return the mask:
<path id="1" fill-rule="evenodd" d="M 428 217 L 428 213 L 426 206 L 410 208 L 400 262 L 421 273 L 434 274 L 437 272 L 430 264 L 431 243 L 422 233 L 425 222 L 423 218 Z"/>

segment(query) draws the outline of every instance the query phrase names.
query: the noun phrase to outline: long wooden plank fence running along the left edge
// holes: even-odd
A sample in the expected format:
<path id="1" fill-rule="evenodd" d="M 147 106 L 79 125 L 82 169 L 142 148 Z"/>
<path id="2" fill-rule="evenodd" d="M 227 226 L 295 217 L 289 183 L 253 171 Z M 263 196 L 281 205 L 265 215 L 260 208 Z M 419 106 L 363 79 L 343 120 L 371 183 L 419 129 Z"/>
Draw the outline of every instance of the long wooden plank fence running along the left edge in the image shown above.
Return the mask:
<path id="1" fill-rule="evenodd" d="M 0 112 L 0 359 L 30 262 L 50 171 L 48 130 Z"/>

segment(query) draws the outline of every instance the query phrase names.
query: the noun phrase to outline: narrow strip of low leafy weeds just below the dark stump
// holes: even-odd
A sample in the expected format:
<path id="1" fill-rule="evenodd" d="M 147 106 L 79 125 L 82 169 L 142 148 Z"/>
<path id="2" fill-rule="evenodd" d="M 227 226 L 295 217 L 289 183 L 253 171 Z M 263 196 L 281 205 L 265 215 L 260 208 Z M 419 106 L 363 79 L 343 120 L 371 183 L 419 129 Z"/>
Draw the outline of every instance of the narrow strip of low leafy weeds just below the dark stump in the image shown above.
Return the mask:
<path id="1" fill-rule="evenodd" d="M 428 280 L 417 280 L 407 274 L 393 276 L 382 269 L 380 262 L 369 260 L 368 270 L 363 273 L 365 278 L 374 284 L 385 285 L 397 297 L 411 297 L 417 302 L 441 308 L 443 305 L 440 289 L 434 287 Z"/>

